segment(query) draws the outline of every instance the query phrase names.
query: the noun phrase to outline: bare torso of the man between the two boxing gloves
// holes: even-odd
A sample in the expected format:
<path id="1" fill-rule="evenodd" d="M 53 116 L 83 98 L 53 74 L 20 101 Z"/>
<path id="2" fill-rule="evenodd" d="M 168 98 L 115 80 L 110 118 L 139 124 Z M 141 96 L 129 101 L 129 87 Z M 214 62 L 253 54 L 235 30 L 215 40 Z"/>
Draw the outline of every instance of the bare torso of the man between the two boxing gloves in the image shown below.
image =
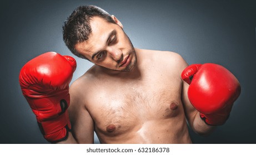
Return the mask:
<path id="1" fill-rule="evenodd" d="M 81 85 L 84 107 L 101 143 L 191 143 L 175 59 L 160 61 L 157 52 L 137 52 L 133 77 L 100 74 L 97 66 L 83 75 L 90 81 Z"/>

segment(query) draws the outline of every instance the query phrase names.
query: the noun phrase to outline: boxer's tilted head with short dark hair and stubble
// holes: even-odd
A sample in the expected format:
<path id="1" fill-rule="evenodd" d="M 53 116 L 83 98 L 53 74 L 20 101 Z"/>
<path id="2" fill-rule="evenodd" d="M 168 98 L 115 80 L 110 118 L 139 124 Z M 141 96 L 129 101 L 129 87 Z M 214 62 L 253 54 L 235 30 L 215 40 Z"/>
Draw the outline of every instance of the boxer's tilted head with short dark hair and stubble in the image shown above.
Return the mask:
<path id="1" fill-rule="evenodd" d="M 80 58 L 111 70 L 131 70 L 135 50 L 119 20 L 96 6 L 81 6 L 63 25 L 63 40 Z"/>

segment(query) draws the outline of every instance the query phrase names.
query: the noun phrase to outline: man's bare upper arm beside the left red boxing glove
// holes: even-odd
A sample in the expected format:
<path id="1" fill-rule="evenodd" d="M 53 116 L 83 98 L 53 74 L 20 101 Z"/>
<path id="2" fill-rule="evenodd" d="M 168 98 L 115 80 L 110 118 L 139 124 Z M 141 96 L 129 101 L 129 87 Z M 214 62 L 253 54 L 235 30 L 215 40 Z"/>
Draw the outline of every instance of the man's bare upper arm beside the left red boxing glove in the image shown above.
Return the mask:
<path id="1" fill-rule="evenodd" d="M 81 92 L 81 84 L 78 81 L 71 85 L 69 94 L 71 101 L 68 112 L 72 125 L 72 134 L 78 143 L 93 143 L 93 120 L 86 109 L 85 95 L 83 91 Z"/>

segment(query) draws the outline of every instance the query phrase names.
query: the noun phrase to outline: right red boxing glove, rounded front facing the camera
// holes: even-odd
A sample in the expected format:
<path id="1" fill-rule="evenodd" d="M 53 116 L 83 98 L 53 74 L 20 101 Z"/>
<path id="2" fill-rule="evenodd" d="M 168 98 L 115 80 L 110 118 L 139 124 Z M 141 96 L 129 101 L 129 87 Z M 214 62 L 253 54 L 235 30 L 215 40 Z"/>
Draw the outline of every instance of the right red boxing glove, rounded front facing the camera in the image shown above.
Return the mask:
<path id="1" fill-rule="evenodd" d="M 182 72 L 187 82 L 188 99 L 208 125 L 223 125 L 240 95 L 239 81 L 223 66 L 193 64 Z M 192 80 L 193 79 L 193 80 Z"/>

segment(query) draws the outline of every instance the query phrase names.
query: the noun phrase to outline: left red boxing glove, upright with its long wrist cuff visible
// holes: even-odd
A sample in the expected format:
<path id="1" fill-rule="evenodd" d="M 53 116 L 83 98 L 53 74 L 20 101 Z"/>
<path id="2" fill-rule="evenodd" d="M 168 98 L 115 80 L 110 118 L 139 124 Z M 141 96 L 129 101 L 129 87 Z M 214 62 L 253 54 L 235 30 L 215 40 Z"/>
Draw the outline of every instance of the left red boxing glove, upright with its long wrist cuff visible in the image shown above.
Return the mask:
<path id="1" fill-rule="evenodd" d="M 66 139 L 71 129 L 67 108 L 75 70 L 76 60 L 71 56 L 47 52 L 28 61 L 19 74 L 23 95 L 49 142 Z"/>

